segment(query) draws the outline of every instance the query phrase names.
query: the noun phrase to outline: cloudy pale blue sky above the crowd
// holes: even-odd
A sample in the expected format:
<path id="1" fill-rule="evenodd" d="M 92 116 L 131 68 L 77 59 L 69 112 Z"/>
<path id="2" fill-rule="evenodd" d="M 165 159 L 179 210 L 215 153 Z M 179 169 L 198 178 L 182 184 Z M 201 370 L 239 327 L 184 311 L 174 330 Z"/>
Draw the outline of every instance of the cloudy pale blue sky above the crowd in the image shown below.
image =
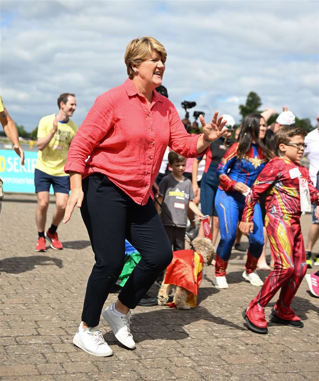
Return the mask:
<path id="1" fill-rule="evenodd" d="M 249 91 L 263 108 L 318 115 L 315 1 L 2 1 L 1 95 L 31 131 L 76 94 L 79 125 L 95 98 L 127 78 L 124 51 L 151 35 L 168 56 L 163 85 L 181 117 L 218 109 L 238 122 Z M 191 114 L 192 115 L 192 114 Z"/>

